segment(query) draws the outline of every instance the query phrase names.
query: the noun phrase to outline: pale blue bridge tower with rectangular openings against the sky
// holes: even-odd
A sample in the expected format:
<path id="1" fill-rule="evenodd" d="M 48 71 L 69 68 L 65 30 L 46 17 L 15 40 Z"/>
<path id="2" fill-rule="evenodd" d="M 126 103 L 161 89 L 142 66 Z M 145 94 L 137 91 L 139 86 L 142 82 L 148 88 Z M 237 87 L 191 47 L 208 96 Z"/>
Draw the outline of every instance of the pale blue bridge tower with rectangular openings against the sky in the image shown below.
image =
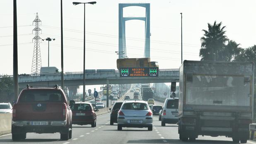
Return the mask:
<path id="1" fill-rule="evenodd" d="M 130 6 L 138 6 L 146 8 L 145 17 L 123 17 L 123 8 Z M 145 49 L 144 57 L 150 57 L 150 4 L 149 3 L 120 3 L 119 4 L 119 59 L 121 59 L 120 52 L 124 52 L 124 57 L 127 56 L 126 53 L 126 21 L 129 20 L 141 20 L 145 21 Z"/>

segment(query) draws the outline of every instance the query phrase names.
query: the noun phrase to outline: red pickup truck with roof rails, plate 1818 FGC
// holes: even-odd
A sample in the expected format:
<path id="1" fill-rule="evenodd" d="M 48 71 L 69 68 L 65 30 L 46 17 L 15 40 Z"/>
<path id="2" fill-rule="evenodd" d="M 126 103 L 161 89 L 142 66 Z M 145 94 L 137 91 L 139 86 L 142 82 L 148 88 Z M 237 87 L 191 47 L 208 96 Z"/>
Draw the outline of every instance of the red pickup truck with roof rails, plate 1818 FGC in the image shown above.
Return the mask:
<path id="1" fill-rule="evenodd" d="M 12 109 L 12 140 L 26 139 L 27 132 L 60 132 L 61 140 L 72 137 L 72 111 L 62 89 L 27 86 Z"/>

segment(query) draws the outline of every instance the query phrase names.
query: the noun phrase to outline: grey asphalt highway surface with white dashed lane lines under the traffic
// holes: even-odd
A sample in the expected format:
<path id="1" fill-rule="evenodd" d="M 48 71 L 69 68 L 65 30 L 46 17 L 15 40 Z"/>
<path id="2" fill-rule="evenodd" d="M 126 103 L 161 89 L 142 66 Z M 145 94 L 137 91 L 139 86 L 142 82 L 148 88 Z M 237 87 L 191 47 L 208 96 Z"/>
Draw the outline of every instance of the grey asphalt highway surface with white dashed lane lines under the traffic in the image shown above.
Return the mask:
<path id="1" fill-rule="evenodd" d="M 163 105 L 161 102 L 156 102 Z M 196 142 L 179 140 L 176 124 L 161 126 L 158 116 L 154 116 L 153 131 L 147 128 L 127 128 L 117 131 L 117 125 L 109 125 L 110 114 L 97 117 L 97 127 L 91 125 L 72 125 L 72 139 L 61 141 L 60 134 L 27 133 L 27 138 L 13 142 L 12 135 L 0 136 L 0 144 L 232 144 L 232 138 L 199 136 Z M 247 144 L 256 144 L 248 141 Z"/>

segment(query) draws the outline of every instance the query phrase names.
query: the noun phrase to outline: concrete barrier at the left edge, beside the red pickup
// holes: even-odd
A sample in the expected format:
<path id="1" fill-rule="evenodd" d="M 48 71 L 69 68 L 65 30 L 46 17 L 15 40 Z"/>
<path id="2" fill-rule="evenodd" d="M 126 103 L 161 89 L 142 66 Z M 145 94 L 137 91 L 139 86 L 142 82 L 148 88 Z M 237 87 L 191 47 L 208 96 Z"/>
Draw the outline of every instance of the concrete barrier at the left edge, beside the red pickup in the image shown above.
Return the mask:
<path id="1" fill-rule="evenodd" d="M 0 113 L 0 135 L 12 130 L 12 113 Z"/>

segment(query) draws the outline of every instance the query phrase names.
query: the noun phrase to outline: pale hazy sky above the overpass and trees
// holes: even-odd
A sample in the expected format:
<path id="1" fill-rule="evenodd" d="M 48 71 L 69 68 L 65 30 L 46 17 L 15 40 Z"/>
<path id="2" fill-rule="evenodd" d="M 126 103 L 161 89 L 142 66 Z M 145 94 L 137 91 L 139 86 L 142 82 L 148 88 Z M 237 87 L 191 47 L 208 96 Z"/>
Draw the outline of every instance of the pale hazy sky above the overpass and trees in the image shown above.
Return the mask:
<path id="1" fill-rule="evenodd" d="M 83 5 L 63 0 L 64 72 L 83 68 Z M 77 2 L 88 2 L 77 0 Z M 183 58 L 200 60 L 200 37 L 207 23 L 222 21 L 226 35 L 246 48 L 256 44 L 256 0 L 97 0 L 86 5 L 86 69 L 117 69 L 118 3 L 150 3 L 150 54 L 159 68 L 181 64 L 181 16 L 183 13 Z M 60 0 L 17 0 L 18 73 L 31 73 L 34 43 L 32 21 L 39 14 L 41 38 L 50 42 L 50 66 L 60 69 Z M 0 74 L 12 75 L 12 0 L 0 0 Z M 124 16 L 143 17 L 144 8 L 128 7 Z M 126 22 L 129 58 L 143 57 L 144 21 Z M 42 41 L 42 66 L 48 64 L 48 42 Z"/>

